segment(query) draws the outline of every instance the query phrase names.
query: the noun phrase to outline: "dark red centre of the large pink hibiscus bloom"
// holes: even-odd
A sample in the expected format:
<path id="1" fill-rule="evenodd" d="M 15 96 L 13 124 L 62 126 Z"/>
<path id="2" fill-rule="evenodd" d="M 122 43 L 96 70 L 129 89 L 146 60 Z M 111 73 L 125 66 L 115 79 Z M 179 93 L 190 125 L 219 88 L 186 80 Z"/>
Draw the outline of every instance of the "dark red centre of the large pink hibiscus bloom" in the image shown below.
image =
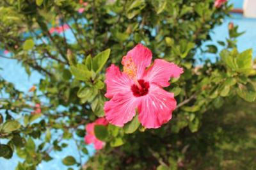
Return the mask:
<path id="1" fill-rule="evenodd" d="M 147 95 L 148 89 L 149 89 L 149 83 L 141 79 L 141 80 L 138 80 L 138 84 L 140 84 L 140 86 L 136 84 L 133 84 L 131 86 L 131 90 L 134 97 L 142 97 Z"/>

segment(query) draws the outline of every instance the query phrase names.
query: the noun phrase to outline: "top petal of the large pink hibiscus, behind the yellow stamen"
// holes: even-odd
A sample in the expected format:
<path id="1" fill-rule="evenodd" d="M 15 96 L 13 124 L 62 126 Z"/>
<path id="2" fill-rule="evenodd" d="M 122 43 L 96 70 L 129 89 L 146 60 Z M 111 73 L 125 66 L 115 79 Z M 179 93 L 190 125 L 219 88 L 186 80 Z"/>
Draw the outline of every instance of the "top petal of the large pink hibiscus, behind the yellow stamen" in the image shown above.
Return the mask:
<path id="1" fill-rule="evenodd" d="M 138 79 L 141 79 L 145 68 L 150 66 L 152 60 L 151 50 L 139 43 L 133 49 L 129 50 L 127 56 L 132 57 L 132 61 L 137 66 L 137 77 Z"/>

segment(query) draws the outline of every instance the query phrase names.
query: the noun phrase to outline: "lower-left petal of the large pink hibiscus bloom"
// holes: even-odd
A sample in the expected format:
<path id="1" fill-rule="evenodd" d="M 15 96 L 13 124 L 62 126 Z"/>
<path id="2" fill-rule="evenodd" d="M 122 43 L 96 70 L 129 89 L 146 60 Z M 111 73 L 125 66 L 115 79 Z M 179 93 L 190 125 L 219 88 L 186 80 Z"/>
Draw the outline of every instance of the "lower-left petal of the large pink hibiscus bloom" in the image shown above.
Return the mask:
<path id="1" fill-rule="evenodd" d="M 137 105 L 138 98 L 134 97 L 131 91 L 118 93 L 104 105 L 106 120 L 113 125 L 123 127 L 135 116 Z"/>

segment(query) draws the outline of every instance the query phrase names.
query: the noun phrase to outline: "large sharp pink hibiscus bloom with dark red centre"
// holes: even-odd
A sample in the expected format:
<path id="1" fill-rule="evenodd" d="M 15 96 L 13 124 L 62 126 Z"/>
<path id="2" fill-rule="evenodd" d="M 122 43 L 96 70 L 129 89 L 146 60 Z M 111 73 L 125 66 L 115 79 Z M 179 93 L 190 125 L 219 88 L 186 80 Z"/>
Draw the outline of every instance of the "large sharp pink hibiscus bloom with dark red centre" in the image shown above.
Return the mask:
<path id="1" fill-rule="evenodd" d="M 169 86 L 170 78 L 179 77 L 183 70 L 163 59 L 155 59 L 150 66 L 151 59 L 152 52 L 138 44 L 123 57 L 124 72 L 115 65 L 107 69 L 105 97 L 111 100 L 105 103 L 104 112 L 109 123 L 123 127 L 136 115 L 136 108 L 146 128 L 159 128 L 172 118 L 176 100 L 163 87 Z"/>

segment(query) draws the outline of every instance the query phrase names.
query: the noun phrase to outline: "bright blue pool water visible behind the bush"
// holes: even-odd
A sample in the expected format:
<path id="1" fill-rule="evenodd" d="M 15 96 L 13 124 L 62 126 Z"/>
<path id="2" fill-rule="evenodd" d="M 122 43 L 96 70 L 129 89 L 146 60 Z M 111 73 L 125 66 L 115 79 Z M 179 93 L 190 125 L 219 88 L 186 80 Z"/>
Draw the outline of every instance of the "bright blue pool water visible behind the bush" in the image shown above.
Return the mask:
<path id="1" fill-rule="evenodd" d="M 235 8 L 242 8 L 243 6 L 243 1 L 233 0 L 232 3 L 234 3 Z M 232 15 L 232 18 L 225 19 L 223 25 L 214 28 L 214 30 L 212 31 L 212 40 L 214 44 L 218 46 L 218 50 L 220 51 L 221 47 L 216 42 L 225 41 L 225 38 L 228 37 L 228 22 L 230 21 L 234 22 L 234 24 L 239 25 L 239 31 L 246 31 L 244 35 L 238 38 L 238 50 L 243 51 L 245 49 L 252 48 L 253 56 L 256 56 L 256 19 L 246 19 L 241 15 Z M 65 35 L 68 37 L 70 43 L 74 42 L 74 36 L 72 35 L 70 30 L 65 31 Z M 205 45 L 207 44 L 212 44 L 212 42 L 205 43 Z M 8 54 L 8 56 L 10 55 L 11 54 Z M 200 53 L 198 53 L 197 55 L 198 56 L 196 56 L 196 58 L 209 58 L 212 61 L 215 61 L 216 59 L 216 55 L 207 54 L 202 56 Z M 31 72 L 31 75 L 28 76 L 24 68 L 22 68 L 22 66 L 20 65 L 20 63 L 17 63 L 17 61 L 13 59 L 0 58 L 0 68 L 3 68 L 3 70 L 0 70 L 0 76 L 4 77 L 6 81 L 13 82 L 17 89 L 24 92 L 28 92 L 29 88 L 31 88 L 33 84 L 38 84 L 41 78 L 41 75 L 37 72 Z M 50 162 L 42 162 L 42 164 L 40 164 L 37 169 L 67 169 L 67 167 L 63 166 L 63 164 L 61 163 L 61 159 L 67 155 L 72 155 L 76 157 L 78 160 L 78 152 L 74 141 L 65 141 L 65 143 L 68 143 L 67 148 L 65 148 L 61 152 L 52 151 L 50 155 L 54 159 L 51 160 Z M 93 146 L 90 145 L 87 147 L 90 153 L 89 155 L 93 155 Z M 84 157 L 83 162 L 86 162 L 87 159 L 88 157 Z M 22 160 L 19 157 L 17 157 L 17 155 L 13 155 L 12 159 L 10 160 L 0 158 L 1 170 L 15 169 L 18 161 Z"/>

